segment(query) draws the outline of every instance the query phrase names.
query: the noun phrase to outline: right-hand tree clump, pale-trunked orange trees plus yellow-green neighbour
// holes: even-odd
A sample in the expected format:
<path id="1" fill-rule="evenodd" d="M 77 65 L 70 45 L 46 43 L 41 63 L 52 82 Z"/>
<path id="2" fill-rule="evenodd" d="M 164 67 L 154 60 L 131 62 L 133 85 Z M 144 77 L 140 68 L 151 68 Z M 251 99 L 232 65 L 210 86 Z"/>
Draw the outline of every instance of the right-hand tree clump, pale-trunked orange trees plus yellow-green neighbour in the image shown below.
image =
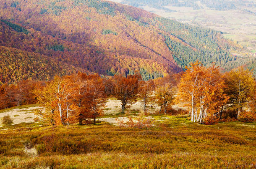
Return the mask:
<path id="1" fill-rule="evenodd" d="M 196 62 L 186 69 L 178 84 L 177 100 L 189 108 L 191 121 L 211 124 L 230 108 L 235 108 L 238 119 L 243 107 L 253 102 L 255 79 L 242 67 L 222 74 L 214 65 L 206 68 Z"/>

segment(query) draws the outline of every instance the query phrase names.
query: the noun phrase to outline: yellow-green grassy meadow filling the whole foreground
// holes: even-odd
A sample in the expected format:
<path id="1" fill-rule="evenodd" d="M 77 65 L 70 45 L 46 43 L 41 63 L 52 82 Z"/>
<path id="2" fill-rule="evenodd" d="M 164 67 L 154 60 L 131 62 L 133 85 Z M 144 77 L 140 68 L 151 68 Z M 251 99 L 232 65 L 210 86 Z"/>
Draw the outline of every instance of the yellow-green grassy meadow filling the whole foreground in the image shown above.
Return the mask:
<path id="1" fill-rule="evenodd" d="M 148 129 L 16 124 L 0 128 L 0 168 L 254 168 L 255 123 L 191 123 L 151 115 Z M 166 119 L 163 119 L 166 118 Z M 161 121 L 158 121 L 161 120 Z M 24 152 L 29 145 L 38 156 Z"/>

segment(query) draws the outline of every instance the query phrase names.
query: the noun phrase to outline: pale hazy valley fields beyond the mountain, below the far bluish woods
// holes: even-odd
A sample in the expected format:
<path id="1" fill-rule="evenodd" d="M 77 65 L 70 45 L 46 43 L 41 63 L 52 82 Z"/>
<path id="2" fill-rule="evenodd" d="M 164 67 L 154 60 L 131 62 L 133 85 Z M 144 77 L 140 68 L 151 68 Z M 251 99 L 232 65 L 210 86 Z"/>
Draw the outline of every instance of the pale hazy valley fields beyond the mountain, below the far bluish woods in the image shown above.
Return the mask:
<path id="1" fill-rule="evenodd" d="M 192 10 L 186 7 L 166 7 L 178 12 L 166 13 L 164 10 L 141 7 L 165 18 L 175 19 L 182 23 L 201 25 L 227 33 L 231 40 L 248 47 L 249 51 L 256 49 L 256 15 L 243 13 L 240 10 Z"/>

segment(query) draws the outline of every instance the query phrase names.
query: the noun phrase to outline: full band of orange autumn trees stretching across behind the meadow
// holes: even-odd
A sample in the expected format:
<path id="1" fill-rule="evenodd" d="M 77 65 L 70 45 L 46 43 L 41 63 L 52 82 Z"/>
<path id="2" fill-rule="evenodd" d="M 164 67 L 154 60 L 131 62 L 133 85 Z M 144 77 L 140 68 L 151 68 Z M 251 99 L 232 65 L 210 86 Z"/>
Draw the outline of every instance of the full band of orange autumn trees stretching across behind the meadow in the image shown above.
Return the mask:
<path id="1" fill-rule="evenodd" d="M 214 64 L 191 63 L 180 74 L 143 81 L 141 74 L 102 78 L 98 74 L 76 73 L 55 76 L 52 81 L 21 81 L 0 86 L 0 108 L 39 102 L 37 115 L 52 125 L 87 123 L 102 116 L 108 97 L 120 101 L 121 113 L 136 101 L 144 114 L 159 106 L 159 114 L 172 113 L 173 104 L 189 110 L 190 120 L 213 124 L 228 118 L 256 120 L 256 81 L 243 67 L 221 73 Z M 178 111 L 177 111 L 178 112 Z"/>

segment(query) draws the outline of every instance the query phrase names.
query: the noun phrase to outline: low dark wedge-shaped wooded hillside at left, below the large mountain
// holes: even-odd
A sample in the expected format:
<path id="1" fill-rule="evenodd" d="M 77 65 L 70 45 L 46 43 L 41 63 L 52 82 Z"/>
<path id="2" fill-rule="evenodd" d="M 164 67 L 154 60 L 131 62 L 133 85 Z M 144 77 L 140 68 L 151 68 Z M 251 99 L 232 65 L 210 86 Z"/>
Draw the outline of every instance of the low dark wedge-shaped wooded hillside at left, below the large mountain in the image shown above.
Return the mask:
<path id="1" fill-rule="evenodd" d="M 4 46 L 0 46 L 0 61 L 0 84 L 24 79 L 50 80 L 55 75 L 84 71 L 45 55 Z"/>

